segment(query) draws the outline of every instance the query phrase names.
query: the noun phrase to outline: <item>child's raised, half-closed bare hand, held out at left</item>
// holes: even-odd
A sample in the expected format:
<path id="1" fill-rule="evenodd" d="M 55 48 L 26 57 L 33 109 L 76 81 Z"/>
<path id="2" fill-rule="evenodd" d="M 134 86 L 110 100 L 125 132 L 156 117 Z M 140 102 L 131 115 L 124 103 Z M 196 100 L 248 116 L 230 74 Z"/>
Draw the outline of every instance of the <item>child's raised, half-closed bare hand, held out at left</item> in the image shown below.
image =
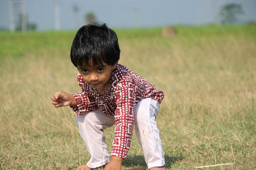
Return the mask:
<path id="1" fill-rule="evenodd" d="M 59 107 L 65 107 L 65 106 L 73 106 L 75 107 L 76 100 L 75 97 L 72 94 L 67 94 L 65 92 L 55 92 L 55 94 L 52 96 L 52 104 L 55 106 L 55 108 Z"/>

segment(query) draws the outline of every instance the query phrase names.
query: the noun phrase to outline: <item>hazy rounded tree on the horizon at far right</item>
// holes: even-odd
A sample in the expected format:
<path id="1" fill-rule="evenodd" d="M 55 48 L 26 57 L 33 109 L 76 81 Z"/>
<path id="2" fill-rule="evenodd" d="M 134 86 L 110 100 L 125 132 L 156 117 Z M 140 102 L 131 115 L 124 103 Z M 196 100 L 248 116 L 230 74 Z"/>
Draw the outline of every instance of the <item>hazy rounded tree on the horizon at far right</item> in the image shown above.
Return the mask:
<path id="1" fill-rule="evenodd" d="M 237 3 L 228 3 L 221 7 L 220 17 L 222 24 L 233 24 L 238 20 L 238 15 L 244 14 L 242 6 Z"/>

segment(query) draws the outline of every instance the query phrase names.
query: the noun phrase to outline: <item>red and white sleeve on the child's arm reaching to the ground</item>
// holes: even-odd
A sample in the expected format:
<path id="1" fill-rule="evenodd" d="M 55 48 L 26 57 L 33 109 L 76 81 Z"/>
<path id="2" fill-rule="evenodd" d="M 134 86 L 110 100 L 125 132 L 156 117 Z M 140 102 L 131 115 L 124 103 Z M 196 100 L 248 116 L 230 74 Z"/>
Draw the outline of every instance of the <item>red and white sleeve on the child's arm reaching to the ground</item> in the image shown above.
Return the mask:
<path id="1" fill-rule="evenodd" d="M 115 137 L 113 139 L 112 156 L 126 159 L 131 144 L 136 108 L 135 88 L 133 84 L 118 86 L 114 92 L 117 108 L 115 109 Z"/>

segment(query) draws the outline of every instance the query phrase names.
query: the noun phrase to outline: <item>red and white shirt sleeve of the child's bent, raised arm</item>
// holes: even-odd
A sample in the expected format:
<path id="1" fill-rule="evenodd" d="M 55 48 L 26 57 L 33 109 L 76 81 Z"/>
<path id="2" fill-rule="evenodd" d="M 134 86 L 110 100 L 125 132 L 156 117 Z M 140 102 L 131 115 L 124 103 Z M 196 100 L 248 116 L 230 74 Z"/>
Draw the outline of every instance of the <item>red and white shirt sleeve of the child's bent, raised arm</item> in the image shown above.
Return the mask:
<path id="1" fill-rule="evenodd" d="M 84 81 L 80 73 L 77 74 L 77 83 L 81 88 L 84 87 Z M 97 109 L 96 101 L 94 101 L 93 97 L 86 96 L 83 88 L 80 93 L 73 94 L 73 96 L 75 97 L 77 105 L 75 107 L 71 106 L 71 109 L 77 116 Z"/>

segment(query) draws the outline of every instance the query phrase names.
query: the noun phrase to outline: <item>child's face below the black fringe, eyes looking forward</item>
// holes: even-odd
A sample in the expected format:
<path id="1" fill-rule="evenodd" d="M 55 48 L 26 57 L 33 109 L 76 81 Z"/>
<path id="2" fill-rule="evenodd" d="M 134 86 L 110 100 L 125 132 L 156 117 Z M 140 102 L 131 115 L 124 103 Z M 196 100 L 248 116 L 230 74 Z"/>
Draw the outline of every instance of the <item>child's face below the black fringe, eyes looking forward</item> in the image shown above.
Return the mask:
<path id="1" fill-rule="evenodd" d="M 117 63 L 111 66 L 102 62 L 102 65 L 94 66 L 92 61 L 89 61 L 89 65 L 77 66 L 77 69 L 87 84 L 96 88 L 98 91 L 105 92 L 105 88 L 109 84 L 110 76 L 115 67 L 117 67 Z"/>

